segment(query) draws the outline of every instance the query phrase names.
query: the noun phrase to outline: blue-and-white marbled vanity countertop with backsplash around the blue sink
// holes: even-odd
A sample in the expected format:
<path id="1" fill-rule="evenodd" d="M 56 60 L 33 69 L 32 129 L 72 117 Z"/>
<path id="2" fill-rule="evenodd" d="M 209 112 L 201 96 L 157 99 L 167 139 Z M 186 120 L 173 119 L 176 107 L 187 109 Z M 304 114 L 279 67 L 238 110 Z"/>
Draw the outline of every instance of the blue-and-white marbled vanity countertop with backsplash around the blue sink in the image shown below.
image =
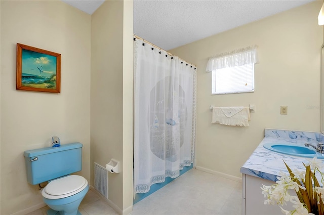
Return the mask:
<path id="1" fill-rule="evenodd" d="M 288 174 L 284 161 L 293 171 L 305 170 L 302 163 L 308 163 L 307 159 L 311 158 L 276 153 L 265 149 L 264 144 L 277 142 L 304 146 L 305 143 L 316 145 L 323 140 L 324 135 L 321 133 L 265 129 L 263 140 L 240 168 L 240 173 L 275 182 L 280 171 Z M 324 159 L 321 160 L 324 162 Z"/>

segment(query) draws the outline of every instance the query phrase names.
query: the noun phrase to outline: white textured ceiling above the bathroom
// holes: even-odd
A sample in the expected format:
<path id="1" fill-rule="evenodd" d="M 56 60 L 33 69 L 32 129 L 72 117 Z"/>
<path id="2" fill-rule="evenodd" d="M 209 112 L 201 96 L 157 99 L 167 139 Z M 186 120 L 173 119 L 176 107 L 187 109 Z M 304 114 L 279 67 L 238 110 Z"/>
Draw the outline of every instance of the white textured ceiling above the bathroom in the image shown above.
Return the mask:
<path id="1" fill-rule="evenodd" d="M 133 32 L 170 50 L 312 1 L 134 0 Z M 96 0 L 64 2 L 89 14 L 103 3 Z"/>

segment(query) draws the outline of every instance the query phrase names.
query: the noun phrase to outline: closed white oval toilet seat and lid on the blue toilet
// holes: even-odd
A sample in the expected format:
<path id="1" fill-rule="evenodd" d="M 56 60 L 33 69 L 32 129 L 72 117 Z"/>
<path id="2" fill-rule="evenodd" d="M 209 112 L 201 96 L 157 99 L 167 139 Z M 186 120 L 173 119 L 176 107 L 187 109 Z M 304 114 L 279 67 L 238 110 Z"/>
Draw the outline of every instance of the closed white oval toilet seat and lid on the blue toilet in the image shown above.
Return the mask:
<path id="1" fill-rule="evenodd" d="M 42 196 L 48 199 L 61 199 L 81 192 L 88 186 L 82 176 L 71 175 L 51 181 L 43 190 Z"/>

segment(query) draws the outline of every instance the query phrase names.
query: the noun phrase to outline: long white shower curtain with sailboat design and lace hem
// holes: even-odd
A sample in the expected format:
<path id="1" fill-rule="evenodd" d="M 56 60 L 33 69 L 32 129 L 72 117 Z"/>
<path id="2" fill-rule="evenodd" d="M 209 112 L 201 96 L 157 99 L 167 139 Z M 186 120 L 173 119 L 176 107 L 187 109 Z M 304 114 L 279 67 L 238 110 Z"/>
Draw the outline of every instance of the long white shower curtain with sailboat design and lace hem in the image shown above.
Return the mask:
<path id="1" fill-rule="evenodd" d="M 134 40 L 135 193 L 193 162 L 195 85 L 194 66 Z"/>

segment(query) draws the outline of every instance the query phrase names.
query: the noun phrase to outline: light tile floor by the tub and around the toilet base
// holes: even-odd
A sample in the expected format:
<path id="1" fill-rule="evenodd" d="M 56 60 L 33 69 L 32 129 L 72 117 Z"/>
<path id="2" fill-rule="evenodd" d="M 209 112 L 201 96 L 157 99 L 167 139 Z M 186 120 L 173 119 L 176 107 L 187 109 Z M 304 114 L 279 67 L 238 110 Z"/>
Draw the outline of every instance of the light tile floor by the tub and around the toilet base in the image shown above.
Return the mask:
<path id="1" fill-rule="evenodd" d="M 191 169 L 136 203 L 130 215 L 239 215 L 241 192 L 240 182 Z M 46 215 L 47 209 L 44 207 L 28 215 Z M 82 215 L 118 214 L 91 190 L 79 211 Z"/>

